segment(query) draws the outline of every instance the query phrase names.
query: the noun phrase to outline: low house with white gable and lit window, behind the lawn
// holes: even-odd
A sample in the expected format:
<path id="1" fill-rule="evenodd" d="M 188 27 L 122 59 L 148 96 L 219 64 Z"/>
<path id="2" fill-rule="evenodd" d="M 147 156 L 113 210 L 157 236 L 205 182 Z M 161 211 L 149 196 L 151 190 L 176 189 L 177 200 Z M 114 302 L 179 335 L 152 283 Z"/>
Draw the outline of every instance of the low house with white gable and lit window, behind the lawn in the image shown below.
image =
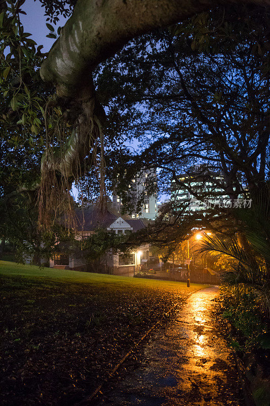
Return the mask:
<path id="1" fill-rule="evenodd" d="M 75 212 L 76 223 L 76 239 L 86 239 L 96 232 L 97 229 L 103 228 L 107 231 L 113 231 L 116 234 L 125 234 L 128 232 L 136 232 L 145 227 L 141 219 L 124 219 L 121 216 L 116 216 L 110 211 L 101 212 L 98 208 L 90 206 Z M 146 262 L 149 259 L 149 244 L 140 246 L 136 251 L 130 254 L 122 254 L 121 252 L 112 253 L 109 250 L 104 257 L 101 258 L 99 272 L 102 272 L 102 267 L 105 272 L 114 275 L 133 275 L 138 270 L 141 262 Z M 65 243 L 59 243 L 58 252 L 50 259 L 50 267 L 62 269 L 77 269 L 77 270 L 95 270 L 93 265 L 89 269 L 88 264 L 82 262 L 81 259 L 75 258 L 74 255 L 68 254 L 68 249 Z M 95 265 L 99 268 L 98 265 Z"/>

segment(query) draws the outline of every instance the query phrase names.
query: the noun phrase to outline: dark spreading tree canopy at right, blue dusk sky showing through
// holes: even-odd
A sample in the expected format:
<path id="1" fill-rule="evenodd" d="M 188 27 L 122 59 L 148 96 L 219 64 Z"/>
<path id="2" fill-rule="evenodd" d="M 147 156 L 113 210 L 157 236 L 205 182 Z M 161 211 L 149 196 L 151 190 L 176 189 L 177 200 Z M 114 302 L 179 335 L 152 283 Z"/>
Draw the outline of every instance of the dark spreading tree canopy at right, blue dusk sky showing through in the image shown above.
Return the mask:
<path id="1" fill-rule="evenodd" d="M 230 198 L 268 178 L 268 27 L 257 8 L 219 8 L 130 42 L 96 72 L 107 137 L 141 143 L 118 154 L 119 194 L 143 168 L 158 170 L 163 193 L 172 180 L 194 193 L 178 175 L 198 163 Z"/>

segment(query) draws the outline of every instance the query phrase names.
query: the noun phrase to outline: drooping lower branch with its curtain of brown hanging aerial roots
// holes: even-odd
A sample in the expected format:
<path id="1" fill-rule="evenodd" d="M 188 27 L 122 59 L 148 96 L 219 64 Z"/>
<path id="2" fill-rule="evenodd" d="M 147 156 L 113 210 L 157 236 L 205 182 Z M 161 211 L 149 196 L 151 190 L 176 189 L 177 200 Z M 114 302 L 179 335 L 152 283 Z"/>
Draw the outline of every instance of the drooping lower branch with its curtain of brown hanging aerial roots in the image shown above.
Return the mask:
<path id="1" fill-rule="evenodd" d="M 74 200 L 70 194 L 72 183 L 76 185 L 81 200 L 93 201 L 95 191 L 92 185 L 89 184 L 86 190 L 85 184 L 81 183 L 83 176 L 93 167 L 92 173 L 99 182 L 98 207 L 105 211 L 104 136 L 95 113 L 95 99 L 92 97 L 80 104 L 72 127 L 67 126 L 68 114 L 59 114 L 59 109 L 53 109 L 49 116 L 53 131 L 46 130 L 47 148 L 42 159 L 38 194 L 38 223 L 42 228 L 49 229 L 58 223 L 75 229 Z"/>

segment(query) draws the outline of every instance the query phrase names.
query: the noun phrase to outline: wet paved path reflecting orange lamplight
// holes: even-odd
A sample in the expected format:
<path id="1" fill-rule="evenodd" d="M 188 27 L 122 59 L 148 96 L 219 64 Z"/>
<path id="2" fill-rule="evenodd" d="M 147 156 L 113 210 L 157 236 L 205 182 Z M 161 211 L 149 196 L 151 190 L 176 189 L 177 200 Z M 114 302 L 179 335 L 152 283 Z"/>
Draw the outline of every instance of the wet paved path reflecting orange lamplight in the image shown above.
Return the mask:
<path id="1" fill-rule="evenodd" d="M 211 287 L 189 296 L 143 347 L 139 366 L 115 377 L 91 404 L 243 406 L 234 357 L 213 312 L 217 294 Z"/>

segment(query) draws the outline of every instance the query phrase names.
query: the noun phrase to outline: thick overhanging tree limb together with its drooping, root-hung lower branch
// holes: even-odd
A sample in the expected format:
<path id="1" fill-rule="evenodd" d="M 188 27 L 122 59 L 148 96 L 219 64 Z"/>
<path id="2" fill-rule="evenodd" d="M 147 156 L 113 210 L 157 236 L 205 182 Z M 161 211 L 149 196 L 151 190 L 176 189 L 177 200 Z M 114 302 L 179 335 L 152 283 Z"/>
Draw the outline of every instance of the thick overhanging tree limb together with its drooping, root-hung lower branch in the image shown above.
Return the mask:
<path id="1" fill-rule="evenodd" d="M 41 77 L 56 85 L 65 104 L 75 100 L 81 106 L 78 116 L 81 128 L 78 132 L 74 130 L 66 140 L 60 157 L 55 153 L 44 154 L 41 184 L 46 183 L 51 171 L 68 180 L 64 189 L 70 187 L 72 180 L 82 172 L 81 164 L 96 138 L 100 137 L 102 146 L 103 114 L 98 108 L 92 80 L 92 71 L 98 63 L 136 36 L 225 3 L 269 6 L 270 0 L 78 0 L 42 64 Z"/>

